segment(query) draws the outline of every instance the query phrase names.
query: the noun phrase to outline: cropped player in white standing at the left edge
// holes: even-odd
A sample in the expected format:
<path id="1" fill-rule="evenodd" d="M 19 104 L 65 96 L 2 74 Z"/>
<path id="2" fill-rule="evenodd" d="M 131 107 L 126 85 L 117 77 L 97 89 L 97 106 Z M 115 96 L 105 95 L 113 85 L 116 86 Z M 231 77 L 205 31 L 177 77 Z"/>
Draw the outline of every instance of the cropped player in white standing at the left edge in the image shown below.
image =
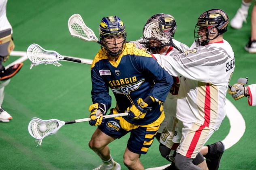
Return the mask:
<path id="1" fill-rule="evenodd" d="M 13 77 L 22 67 L 23 63 L 15 64 L 9 68 L 5 68 L 2 63 L 5 62 L 14 48 L 12 39 L 12 27 L 6 17 L 7 0 L 0 2 L 0 122 L 10 122 L 13 117 L 2 109 L 4 100 L 4 87 L 10 82 Z"/>

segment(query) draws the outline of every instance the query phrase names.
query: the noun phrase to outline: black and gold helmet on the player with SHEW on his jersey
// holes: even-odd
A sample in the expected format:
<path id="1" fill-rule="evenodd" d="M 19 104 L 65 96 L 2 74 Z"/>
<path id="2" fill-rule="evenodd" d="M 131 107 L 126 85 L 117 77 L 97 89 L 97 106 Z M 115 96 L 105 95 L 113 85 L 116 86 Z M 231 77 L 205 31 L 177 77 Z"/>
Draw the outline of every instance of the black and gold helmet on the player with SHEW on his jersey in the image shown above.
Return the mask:
<path id="1" fill-rule="evenodd" d="M 205 11 L 203 14 L 200 15 L 195 26 L 194 36 L 196 46 L 205 46 L 209 44 L 209 40 L 214 40 L 219 35 L 226 32 L 228 30 L 228 22 L 228 15 L 224 12 L 224 10 L 211 9 Z M 214 38 L 210 39 L 209 34 L 216 34 L 212 33 L 211 29 L 213 28 L 216 28 L 218 30 L 218 34 Z M 202 36 L 199 34 L 203 31 L 206 31 L 206 34 L 203 34 L 203 36 L 206 36 L 206 38 L 202 38 Z"/>

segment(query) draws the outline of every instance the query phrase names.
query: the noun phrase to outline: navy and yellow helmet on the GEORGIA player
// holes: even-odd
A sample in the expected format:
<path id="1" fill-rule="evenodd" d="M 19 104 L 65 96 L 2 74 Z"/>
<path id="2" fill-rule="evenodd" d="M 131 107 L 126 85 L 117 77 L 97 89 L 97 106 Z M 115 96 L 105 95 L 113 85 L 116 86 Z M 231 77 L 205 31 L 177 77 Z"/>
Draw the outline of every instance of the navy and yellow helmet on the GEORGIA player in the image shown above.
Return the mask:
<path id="1" fill-rule="evenodd" d="M 121 19 L 117 16 L 103 17 L 100 22 L 99 32 L 100 32 L 101 49 L 111 57 L 118 57 L 123 50 L 124 43 L 126 42 L 125 25 L 121 21 Z M 105 41 L 105 38 L 115 38 L 117 36 L 123 37 L 123 41 L 121 42 L 122 48 L 116 52 L 113 52 L 107 46 L 107 44 L 109 43 Z M 117 45 L 117 43 L 114 43 L 113 45 Z"/>

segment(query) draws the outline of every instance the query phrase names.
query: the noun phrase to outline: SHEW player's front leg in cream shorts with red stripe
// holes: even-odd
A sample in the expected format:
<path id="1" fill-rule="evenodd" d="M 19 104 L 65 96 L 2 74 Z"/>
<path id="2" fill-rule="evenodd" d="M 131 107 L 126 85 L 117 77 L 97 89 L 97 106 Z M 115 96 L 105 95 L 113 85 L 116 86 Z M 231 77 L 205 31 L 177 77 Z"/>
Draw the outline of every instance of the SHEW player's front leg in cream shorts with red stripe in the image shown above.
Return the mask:
<path id="1" fill-rule="evenodd" d="M 208 168 L 205 168 L 205 166 L 200 168 L 193 164 L 193 159 L 196 158 L 196 155 L 199 153 L 213 132 L 213 129 L 201 124 L 187 124 L 183 122 L 181 143 L 177 148 L 177 154 L 175 157 L 176 168 L 180 170 L 201 170 L 204 168 L 207 170 Z"/>

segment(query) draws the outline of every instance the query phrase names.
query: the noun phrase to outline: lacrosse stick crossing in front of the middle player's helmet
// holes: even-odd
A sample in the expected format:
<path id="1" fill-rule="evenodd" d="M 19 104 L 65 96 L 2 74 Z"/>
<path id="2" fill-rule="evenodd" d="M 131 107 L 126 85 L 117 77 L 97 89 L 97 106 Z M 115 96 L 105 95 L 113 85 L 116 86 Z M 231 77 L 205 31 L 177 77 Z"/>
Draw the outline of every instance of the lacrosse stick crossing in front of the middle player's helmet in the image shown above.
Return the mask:
<path id="1" fill-rule="evenodd" d="M 183 51 L 173 43 L 173 38 L 160 29 L 158 21 L 147 23 L 143 28 L 143 36 L 147 40 L 158 40 L 164 46 L 173 46 L 179 52 L 183 53 Z"/>

